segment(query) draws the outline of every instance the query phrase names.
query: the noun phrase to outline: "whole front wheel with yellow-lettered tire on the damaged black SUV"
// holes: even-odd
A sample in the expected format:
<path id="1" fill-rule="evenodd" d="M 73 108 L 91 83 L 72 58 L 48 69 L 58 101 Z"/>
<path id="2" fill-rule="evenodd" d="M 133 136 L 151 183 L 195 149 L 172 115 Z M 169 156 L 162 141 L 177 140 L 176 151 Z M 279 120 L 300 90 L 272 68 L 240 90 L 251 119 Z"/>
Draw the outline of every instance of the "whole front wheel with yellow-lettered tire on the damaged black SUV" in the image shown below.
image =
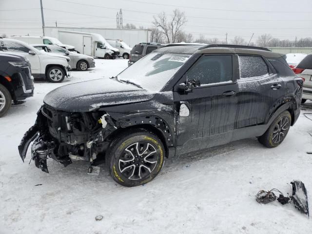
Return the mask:
<path id="1" fill-rule="evenodd" d="M 165 149 L 155 134 L 133 130 L 112 141 L 105 160 L 118 184 L 133 187 L 157 176 L 165 161 Z"/>

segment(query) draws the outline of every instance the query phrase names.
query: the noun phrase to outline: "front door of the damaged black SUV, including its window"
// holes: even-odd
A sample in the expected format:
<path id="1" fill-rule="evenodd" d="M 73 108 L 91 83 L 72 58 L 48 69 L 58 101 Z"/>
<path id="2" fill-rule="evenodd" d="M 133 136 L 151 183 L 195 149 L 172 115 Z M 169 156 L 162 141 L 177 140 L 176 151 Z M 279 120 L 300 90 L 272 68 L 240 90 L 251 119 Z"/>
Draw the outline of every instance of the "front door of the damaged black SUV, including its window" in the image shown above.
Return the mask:
<path id="1" fill-rule="evenodd" d="M 180 106 L 176 116 L 177 145 L 185 144 L 184 151 L 231 140 L 231 135 L 225 133 L 234 130 L 237 113 L 233 58 L 232 54 L 203 55 L 182 78 L 185 82 L 196 79 L 200 86 L 189 93 L 174 92 L 175 104 Z"/>

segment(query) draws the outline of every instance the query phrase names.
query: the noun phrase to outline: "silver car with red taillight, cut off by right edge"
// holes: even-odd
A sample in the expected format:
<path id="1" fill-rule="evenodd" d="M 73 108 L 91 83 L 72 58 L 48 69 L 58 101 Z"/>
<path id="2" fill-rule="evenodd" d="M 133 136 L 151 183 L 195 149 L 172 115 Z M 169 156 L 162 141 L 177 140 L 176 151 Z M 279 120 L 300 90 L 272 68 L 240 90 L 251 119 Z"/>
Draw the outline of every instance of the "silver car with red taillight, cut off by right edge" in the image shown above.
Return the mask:
<path id="1" fill-rule="evenodd" d="M 292 70 L 295 74 L 304 79 L 301 103 L 312 100 L 312 53 L 302 59 Z"/>

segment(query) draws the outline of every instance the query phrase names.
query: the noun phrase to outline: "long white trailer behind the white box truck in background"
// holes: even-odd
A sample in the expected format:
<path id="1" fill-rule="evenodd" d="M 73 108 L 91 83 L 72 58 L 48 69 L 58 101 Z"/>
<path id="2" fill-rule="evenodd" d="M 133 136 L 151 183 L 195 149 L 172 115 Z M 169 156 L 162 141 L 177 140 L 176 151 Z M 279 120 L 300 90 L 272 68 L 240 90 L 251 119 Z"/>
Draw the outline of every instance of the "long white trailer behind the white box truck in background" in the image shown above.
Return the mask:
<path id="1" fill-rule="evenodd" d="M 149 29 L 44 27 L 45 35 L 49 37 L 58 38 L 59 31 L 97 33 L 102 35 L 103 38 L 121 39 L 130 47 L 141 42 L 150 42 L 151 35 L 151 30 Z"/>

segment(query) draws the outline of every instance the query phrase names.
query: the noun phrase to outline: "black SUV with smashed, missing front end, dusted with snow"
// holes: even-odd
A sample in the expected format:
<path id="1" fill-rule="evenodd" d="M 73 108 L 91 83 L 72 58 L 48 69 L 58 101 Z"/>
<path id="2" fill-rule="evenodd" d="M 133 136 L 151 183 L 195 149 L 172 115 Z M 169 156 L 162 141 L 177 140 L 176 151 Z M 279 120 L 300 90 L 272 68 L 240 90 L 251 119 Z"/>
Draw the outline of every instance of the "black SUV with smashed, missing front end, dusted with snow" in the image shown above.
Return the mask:
<path id="1" fill-rule="evenodd" d="M 278 146 L 299 116 L 302 84 L 267 48 L 167 45 L 114 78 L 47 94 L 20 156 L 34 141 L 32 159 L 44 172 L 48 157 L 88 161 L 89 173 L 105 162 L 117 183 L 141 185 L 167 157 L 248 137 Z"/>

